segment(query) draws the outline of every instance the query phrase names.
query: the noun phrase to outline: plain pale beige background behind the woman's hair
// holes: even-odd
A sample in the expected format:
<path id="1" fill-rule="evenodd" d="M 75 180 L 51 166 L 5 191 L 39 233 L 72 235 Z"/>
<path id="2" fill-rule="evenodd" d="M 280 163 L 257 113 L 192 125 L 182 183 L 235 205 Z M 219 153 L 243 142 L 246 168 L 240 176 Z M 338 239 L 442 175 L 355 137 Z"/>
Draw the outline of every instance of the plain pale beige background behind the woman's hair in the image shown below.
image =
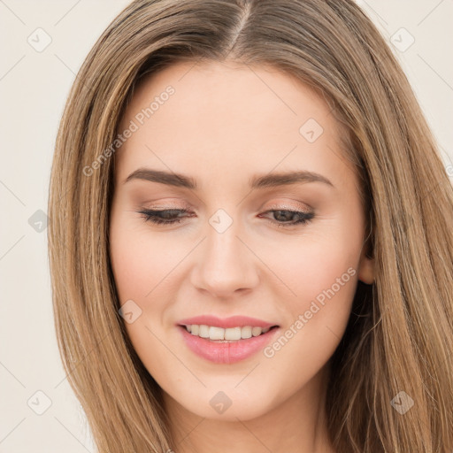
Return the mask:
<path id="1" fill-rule="evenodd" d="M 453 42 L 453 2 L 357 3 L 397 46 L 395 54 L 453 180 L 453 64 L 448 50 Z M 0 452 L 94 450 L 59 360 L 45 213 L 65 98 L 88 50 L 127 4 L 126 0 L 0 0 Z M 36 32 L 40 27 L 43 31 Z M 39 49 L 46 39 L 51 39 L 48 47 Z"/>

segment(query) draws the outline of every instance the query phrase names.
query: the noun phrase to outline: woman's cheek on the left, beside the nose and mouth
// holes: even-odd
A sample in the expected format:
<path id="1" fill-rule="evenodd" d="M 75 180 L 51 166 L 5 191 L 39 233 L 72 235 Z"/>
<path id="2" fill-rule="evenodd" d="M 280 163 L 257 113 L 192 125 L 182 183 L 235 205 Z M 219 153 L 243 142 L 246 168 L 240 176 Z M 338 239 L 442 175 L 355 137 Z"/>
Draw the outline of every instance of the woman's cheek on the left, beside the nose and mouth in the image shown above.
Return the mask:
<path id="1" fill-rule="evenodd" d="M 162 235 L 150 234 L 144 222 L 137 226 L 136 219 L 119 218 L 111 221 L 110 255 L 119 304 L 128 303 L 134 312 L 132 322 L 125 319 L 127 334 L 143 364 L 159 376 L 158 365 L 168 355 L 159 339 L 164 337 L 171 271 L 184 254 L 174 242 L 172 246 Z"/>

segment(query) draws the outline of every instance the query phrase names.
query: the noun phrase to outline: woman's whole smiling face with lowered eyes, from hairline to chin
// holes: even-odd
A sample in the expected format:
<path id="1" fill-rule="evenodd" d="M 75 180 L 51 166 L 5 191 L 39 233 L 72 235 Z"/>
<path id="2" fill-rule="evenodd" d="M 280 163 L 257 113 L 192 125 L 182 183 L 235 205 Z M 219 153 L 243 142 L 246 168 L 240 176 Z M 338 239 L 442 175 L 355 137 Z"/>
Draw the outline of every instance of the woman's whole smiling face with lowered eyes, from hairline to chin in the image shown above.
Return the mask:
<path id="1" fill-rule="evenodd" d="M 111 265 L 165 401 L 246 420 L 318 397 L 357 280 L 373 279 L 324 99 L 269 67 L 180 63 L 139 86 L 119 134 Z"/>

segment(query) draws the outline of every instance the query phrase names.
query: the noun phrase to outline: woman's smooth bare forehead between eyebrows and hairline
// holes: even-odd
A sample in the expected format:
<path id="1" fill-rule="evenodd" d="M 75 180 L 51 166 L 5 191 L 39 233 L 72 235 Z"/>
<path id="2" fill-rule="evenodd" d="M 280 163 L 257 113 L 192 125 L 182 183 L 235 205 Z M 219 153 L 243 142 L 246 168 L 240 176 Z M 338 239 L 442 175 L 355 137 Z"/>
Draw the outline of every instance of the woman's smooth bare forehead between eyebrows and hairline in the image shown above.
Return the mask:
<path id="1" fill-rule="evenodd" d="M 231 180 L 248 169 L 334 173 L 344 162 L 344 131 L 323 96 L 269 65 L 171 65 L 137 87 L 119 134 L 132 123 L 115 157 L 121 179 L 138 165 Z"/>

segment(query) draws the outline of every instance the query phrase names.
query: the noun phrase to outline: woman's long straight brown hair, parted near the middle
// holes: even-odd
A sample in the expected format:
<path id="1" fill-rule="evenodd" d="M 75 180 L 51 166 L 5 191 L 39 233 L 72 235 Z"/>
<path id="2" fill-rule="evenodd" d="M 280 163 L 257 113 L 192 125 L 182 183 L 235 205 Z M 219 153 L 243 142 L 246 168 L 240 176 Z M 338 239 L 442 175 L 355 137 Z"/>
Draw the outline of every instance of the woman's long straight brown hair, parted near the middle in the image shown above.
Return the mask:
<path id="1" fill-rule="evenodd" d="M 81 66 L 58 131 L 48 234 L 58 347 L 97 449 L 176 449 L 160 388 L 118 312 L 111 143 L 145 74 L 226 59 L 296 75 L 349 131 L 375 282 L 358 283 L 332 357 L 334 448 L 453 450 L 453 189 L 402 69 L 351 0 L 136 0 Z M 413 402 L 405 413 L 392 404 L 402 397 Z"/>

